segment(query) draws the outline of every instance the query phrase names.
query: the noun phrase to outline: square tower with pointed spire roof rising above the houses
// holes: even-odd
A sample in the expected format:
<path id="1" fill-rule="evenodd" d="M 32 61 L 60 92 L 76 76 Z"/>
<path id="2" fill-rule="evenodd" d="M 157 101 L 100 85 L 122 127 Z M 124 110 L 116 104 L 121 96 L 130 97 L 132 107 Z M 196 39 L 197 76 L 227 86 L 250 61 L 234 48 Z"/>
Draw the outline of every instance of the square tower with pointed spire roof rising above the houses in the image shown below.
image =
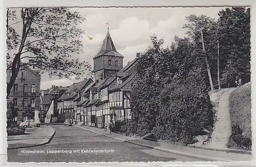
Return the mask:
<path id="1" fill-rule="evenodd" d="M 103 45 L 98 54 L 93 58 L 95 80 L 113 76 L 122 68 L 123 55 L 117 52 L 108 27 L 108 32 L 106 33 Z"/>

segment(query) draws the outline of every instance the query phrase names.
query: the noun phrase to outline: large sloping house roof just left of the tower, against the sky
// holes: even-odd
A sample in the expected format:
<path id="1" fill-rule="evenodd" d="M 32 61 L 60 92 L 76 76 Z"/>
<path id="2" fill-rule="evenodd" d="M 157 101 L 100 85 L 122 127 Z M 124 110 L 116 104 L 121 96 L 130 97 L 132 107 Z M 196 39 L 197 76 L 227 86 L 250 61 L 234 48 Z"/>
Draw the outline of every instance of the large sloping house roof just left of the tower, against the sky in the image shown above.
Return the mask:
<path id="1" fill-rule="evenodd" d="M 76 95 L 74 90 L 77 90 L 77 91 L 82 90 L 84 88 L 84 86 L 86 86 L 88 84 L 89 81 L 93 81 L 93 80 L 91 78 L 84 79 L 80 82 L 72 84 L 58 100 L 73 98 Z"/>

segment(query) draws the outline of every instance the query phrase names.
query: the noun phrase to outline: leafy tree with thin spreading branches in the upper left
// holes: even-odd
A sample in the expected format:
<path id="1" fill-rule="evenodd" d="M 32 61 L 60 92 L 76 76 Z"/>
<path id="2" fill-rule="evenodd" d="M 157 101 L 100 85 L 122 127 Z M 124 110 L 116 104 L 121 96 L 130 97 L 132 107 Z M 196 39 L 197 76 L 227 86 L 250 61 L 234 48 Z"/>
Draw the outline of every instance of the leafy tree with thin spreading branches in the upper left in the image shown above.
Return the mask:
<path id="1" fill-rule="evenodd" d="M 7 63 L 11 61 L 7 97 L 21 67 L 59 78 L 75 75 L 79 79 L 90 71 L 87 62 L 69 59 L 83 52 L 80 38 L 84 31 L 77 25 L 84 20 L 67 8 L 7 9 Z M 14 52 L 13 57 L 10 52 Z"/>

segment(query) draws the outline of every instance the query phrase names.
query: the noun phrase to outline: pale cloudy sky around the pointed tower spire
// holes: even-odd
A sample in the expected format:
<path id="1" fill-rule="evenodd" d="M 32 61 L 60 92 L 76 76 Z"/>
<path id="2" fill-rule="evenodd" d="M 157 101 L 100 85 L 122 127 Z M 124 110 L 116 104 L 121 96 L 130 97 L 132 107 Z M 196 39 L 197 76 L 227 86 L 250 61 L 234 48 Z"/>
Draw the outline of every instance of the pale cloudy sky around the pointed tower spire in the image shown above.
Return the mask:
<path id="1" fill-rule="evenodd" d="M 86 34 L 82 38 L 84 53 L 81 60 L 89 62 L 93 67 L 93 57 L 101 48 L 107 27 L 110 24 L 110 35 L 119 53 L 124 56 L 124 65 L 136 57 L 136 52 L 145 51 L 151 44 L 150 35 L 163 38 L 166 45 L 172 43 L 174 36 L 184 37 L 182 29 L 185 16 L 190 14 L 207 15 L 218 19 L 218 12 L 224 8 L 71 8 L 79 12 L 87 20 L 79 25 Z M 89 40 L 87 36 L 93 37 Z M 41 89 L 52 85 L 69 86 L 75 79 L 49 78 L 41 75 Z"/>

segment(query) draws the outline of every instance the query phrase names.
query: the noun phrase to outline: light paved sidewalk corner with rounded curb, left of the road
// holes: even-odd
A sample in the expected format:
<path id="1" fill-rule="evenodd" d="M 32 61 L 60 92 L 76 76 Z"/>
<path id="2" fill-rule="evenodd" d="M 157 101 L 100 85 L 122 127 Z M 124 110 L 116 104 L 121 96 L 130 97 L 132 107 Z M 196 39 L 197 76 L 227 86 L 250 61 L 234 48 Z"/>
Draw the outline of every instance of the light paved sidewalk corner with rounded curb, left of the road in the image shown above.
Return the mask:
<path id="1" fill-rule="evenodd" d="M 42 125 L 41 127 L 26 128 L 24 135 L 7 136 L 7 149 L 26 148 L 41 146 L 50 143 L 55 130 L 52 127 Z"/>

